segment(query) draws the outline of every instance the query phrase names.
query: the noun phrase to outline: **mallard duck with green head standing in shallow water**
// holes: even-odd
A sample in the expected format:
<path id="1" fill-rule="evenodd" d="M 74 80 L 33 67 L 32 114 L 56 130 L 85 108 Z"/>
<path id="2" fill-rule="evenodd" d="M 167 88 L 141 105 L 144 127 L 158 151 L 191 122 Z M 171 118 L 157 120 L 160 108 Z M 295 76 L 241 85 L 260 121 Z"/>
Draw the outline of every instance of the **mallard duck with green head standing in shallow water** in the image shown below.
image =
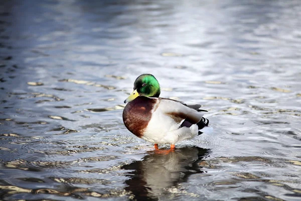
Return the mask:
<path id="1" fill-rule="evenodd" d="M 142 74 L 134 82 L 133 92 L 124 100 L 128 103 L 122 114 L 125 127 L 135 136 L 158 144 L 175 144 L 194 138 L 208 126 L 201 105 L 186 105 L 177 100 L 159 97 L 160 84 L 152 74 Z"/>

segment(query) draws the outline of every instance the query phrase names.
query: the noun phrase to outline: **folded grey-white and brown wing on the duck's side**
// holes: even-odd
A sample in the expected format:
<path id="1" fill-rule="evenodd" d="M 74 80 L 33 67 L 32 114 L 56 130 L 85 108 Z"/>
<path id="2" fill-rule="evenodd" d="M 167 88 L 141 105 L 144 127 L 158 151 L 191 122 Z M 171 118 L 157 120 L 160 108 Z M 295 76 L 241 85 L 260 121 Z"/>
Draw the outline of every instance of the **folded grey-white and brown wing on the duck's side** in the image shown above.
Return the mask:
<path id="1" fill-rule="evenodd" d="M 160 104 L 158 109 L 165 115 L 171 116 L 175 120 L 186 120 L 191 124 L 197 124 L 202 120 L 204 113 L 198 112 L 198 110 L 187 106 L 186 104 L 177 100 L 169 98 L 159 98 Z"/>

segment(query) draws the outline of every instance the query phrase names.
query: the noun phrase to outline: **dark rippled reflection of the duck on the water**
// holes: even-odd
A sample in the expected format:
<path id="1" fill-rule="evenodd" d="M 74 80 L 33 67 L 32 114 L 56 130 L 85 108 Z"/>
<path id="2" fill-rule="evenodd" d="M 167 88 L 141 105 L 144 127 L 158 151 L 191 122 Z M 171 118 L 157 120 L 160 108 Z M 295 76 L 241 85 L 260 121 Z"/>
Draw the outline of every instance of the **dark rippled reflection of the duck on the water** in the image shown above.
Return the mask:
<path id="1" fill-rule="evenodd" d="M 164 188 L 187 181 L 189 175 L 203 173 L 198 164 L 207 157 L 208 149 L 199 147 L 178 148 L 166 155 L 149 152 L 142 161 L 134 161 L 122 166 L 129 172 L 125 181 L 137 200 L 158 200 Z"/>

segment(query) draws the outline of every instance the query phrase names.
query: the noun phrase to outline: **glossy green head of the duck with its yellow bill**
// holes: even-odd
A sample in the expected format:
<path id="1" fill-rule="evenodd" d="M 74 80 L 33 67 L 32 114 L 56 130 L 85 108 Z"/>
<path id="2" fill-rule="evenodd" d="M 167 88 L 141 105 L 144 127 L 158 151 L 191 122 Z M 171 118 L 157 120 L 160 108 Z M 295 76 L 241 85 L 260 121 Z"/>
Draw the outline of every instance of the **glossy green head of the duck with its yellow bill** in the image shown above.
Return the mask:
<path id="1" fill-rule="evenodd" d="M 130 102 L 138 96 L 159 97 L 161 93 L 160 84 L 152 74 L 142 74 L 134 82 L 134 91 L 124 100 Z"/>

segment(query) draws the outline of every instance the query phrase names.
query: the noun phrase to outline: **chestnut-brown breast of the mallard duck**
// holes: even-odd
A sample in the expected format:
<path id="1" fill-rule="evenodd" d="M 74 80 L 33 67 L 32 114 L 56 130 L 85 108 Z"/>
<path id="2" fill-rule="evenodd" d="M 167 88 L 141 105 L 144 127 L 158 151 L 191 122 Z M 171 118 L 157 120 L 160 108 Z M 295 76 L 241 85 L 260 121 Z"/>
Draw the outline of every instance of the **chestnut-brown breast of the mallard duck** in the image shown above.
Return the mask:
<path id="1" fill-rule="evenodd" d="M 135 136 L 142 137 L 158 101 L 158 98 L 138 96 L 129 102 L 122 114 L 125 127 Z"/>

